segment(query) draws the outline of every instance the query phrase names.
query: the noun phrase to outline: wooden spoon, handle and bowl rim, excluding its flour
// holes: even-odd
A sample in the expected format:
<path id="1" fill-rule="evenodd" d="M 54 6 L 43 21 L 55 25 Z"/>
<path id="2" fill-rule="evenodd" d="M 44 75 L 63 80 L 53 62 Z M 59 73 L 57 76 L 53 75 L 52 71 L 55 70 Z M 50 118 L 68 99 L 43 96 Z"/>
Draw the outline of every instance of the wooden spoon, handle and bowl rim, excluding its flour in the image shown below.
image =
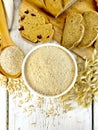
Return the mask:
<path id="1" fill-rule="evenodd" d="M 9 46 L 15 46 L 13 41 L 10 38 L 9 31 L 8 31 L 8 26 L 5 18 L 5 12 L 4 12 L 4 7 L 2 0 L 0 0 L 0 51 L 4 50 L 5 48 Z M 11 77 L 11 78 L 17 78 L 20 76 L 21 73 L 18 73 L 17 75 L 10 75 L 6 73 L 2 67 L 0 66 L 0 72 L 4 74 L 6 77 Z"/>

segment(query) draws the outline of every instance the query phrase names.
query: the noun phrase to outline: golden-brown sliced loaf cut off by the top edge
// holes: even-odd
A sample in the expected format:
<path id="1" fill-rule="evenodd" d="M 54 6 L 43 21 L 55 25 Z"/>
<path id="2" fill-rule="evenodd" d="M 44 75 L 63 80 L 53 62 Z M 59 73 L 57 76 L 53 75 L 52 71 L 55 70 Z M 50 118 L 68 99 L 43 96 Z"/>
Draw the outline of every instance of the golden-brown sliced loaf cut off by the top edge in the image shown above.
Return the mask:
<path id="1" fill-rule="evenodd" d="M 27 0 L 27 1 L 37 5 L 39 8 L 43 8 L 51 15 L 58 17 L 67 8 L 72 6 L 77 0 Z"/>

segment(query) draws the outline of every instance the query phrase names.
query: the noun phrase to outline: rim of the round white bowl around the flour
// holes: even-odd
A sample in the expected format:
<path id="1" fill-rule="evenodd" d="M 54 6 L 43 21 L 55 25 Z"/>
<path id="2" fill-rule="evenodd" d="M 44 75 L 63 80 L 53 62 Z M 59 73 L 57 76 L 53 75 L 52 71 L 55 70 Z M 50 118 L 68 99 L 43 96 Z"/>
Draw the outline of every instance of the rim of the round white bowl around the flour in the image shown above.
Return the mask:
<path id="1" fill-rule="evenodd" d="M 69 56 L 70 58 L 72 58 L 73 60 L 73 63 L 75 65 L 75 76 L 74 76 L 74 79 L 71 83 L 71 85 L 62 93 L 58 94 L 58 95 L 54 95 L 54 96 L 47 96 L 47 95 L 43 95 L 43 94 L 40 94 L 38 93 L 37 91 L 35 91 L 32 87 L 30 87 L 30 85 L 28 84 L 28 81 L 26 79 L 26 76 L 25 76 L 25 65 L 26 65 L 26 62 L 27 62 L 27 59 L 28 57 L 33 53 L 33 51 L 39 49 L 40 47 L 45 47 L 45 46 L 53 46 L 53 47 L 59 47 L 60 49 L 64 50 Z M 36 94 L 37 96 L 41 96 L 41 97 L 44 97 L 44 98 L 58 98 L 60 96 L 63 96 L 64 94 L 68 93 L 71 88 L 74 86 L 75 82 L 76 82 L 76 78 L 77 78 L 77 74 L 78 74 L 78 68 L 77 68 L 77 63 L 76 63 L 76 59 L 75 57 L 73 56 L 73 54 L 66 48 L 62 47 L 61 45 L 58 45 L 58 44 L 54 44 L 54 43 L 46 43 L 46 44 L 41 44 L 41 45 L 38 45 L 38 46 L 35 46 L 33 49 L 31 49 L 31 51 L 26 55 L 26 57 L 24 58 L 24 61 L 23 61 L 23 64 L 22 64 L 22 77 L 23 77 L 23 80 L 24 80 L 24 83 L 25 85 L 27 86 L 27 88 L 33 93 L 33 94 Z"/>

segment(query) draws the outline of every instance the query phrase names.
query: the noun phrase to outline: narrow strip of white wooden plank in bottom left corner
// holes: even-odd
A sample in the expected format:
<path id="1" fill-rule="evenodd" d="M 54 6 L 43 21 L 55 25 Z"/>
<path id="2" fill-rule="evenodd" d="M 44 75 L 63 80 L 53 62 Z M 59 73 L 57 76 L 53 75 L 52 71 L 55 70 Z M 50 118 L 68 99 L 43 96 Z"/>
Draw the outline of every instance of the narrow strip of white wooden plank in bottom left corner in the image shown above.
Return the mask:
<path id="1" fill-rule="evenodd" d="M 0 130 L 7 130 L 7 92 L 0 87 Z"/>

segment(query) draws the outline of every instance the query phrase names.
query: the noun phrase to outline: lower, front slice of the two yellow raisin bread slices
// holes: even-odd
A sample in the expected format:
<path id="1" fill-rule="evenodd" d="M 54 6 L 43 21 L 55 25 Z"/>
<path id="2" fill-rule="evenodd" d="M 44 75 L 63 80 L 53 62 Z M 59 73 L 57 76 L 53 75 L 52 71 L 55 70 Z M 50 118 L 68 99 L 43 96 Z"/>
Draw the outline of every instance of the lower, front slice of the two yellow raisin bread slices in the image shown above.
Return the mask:
<path id="1" fill-rule="evenodd" d="M 25 24 L 24 30 L 21 30 L 20 33 L 21 35 L 30 40 L 31 42 L 37 43 L 45 43 L 50 41 L 53 36 L 53 30 L 52 30 L 52 25 L 51 24 L 43 24 L 43 25 L 38 25 L 34 28 L 32 26 L 29 26 Z"/>

